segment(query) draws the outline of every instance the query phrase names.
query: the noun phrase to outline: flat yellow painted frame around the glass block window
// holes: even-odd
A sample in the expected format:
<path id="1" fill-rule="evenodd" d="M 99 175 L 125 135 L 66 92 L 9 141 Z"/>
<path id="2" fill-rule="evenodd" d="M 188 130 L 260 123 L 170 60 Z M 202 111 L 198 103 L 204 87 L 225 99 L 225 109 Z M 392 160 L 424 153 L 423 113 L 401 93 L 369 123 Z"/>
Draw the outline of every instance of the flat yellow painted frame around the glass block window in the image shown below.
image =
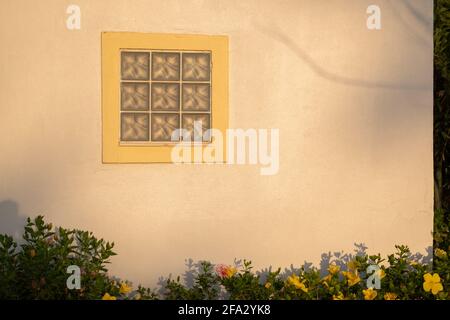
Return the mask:
<path id="1" fill-rule="evenodd" d="M 123 49 L 210 51 L 211 121 L 213 129 L 219 130 L 225 141 L 228 127 L 227 36 L 102 32 L 101 47 L 103 163 L 170 163 L 175 147 L 174 144 L 121 143 L 119 80 Z"/>

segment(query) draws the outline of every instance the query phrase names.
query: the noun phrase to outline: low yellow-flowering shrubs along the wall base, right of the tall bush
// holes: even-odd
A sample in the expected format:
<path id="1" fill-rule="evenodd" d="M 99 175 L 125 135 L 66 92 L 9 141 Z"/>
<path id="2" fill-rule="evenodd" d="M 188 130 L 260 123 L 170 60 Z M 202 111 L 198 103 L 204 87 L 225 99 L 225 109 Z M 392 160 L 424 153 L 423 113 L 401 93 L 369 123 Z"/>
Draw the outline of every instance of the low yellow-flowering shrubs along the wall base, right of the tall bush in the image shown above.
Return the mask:
<path id="1" fill-rule="evenodd" d="M 199 263 L 199 272 L 192 288 L 177 281 L 167 281 L 166 299 L 327 299 L 327 300 L 401 300 L 450 299 L 448 253 L 435 250 L 436 269 L 417 262 L 406 246 L 396 246 L 397 251 L 387 259 L 380 255 L 361 254 L 347 263 L 335 259 L 325 274 L 314 267 L 303 266 L 294 272 L 281 273 L 281 269 L 252 272 L 250 261 L 244 261 L 238 270 L 235 266 L 218 265 L 213 273 L 209 262 Z M 348 256 L 346 256 L 348 257 Z M 379 289 L 367 286 L 375 268 L 380 279 Z M 176 285 L 175 285 L 176 284 Z M 202 290 L 199 290 L 202 288 Z M 208 290 L 208 288 L 214 288 Z"/>

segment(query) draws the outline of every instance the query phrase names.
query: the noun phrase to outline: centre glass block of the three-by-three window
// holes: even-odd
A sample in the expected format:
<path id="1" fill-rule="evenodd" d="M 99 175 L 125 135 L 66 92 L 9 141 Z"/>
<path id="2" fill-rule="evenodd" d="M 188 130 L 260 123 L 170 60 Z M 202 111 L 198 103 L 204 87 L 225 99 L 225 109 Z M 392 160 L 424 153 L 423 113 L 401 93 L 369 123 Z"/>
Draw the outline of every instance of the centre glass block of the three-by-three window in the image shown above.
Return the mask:
<path id="1" fill-rule="evenodd" d="M 152 83 L 152 110 L 180 110 L 180 85 L 178 83 Z"/>

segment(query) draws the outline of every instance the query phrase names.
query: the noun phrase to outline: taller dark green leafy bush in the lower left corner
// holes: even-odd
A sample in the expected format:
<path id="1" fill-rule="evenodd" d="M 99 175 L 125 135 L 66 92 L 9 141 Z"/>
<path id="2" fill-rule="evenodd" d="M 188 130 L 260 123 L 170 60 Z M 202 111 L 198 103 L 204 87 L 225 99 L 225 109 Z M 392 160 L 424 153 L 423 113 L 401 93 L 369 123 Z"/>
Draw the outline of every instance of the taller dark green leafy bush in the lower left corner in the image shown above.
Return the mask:
<path id="1" fill-rule="evenodd" d="M 42 216 L 28 218 L 23 244 L 0 235 L 0 298 L 98 298 L 113 287 L 105 268 L 113 246 L 86 231 L 53 229 Z M 70 265 L 81 269 L 81 290 L 67 289 Z"/>

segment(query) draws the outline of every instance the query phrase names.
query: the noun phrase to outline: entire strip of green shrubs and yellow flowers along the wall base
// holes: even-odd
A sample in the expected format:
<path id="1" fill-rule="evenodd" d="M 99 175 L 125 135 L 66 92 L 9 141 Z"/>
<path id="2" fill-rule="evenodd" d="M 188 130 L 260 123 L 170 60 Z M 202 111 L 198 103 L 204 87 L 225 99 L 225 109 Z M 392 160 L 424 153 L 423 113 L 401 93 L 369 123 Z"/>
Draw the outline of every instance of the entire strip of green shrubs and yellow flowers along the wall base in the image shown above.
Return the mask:
<path id="1" fill-rule="evenodd" d="M 246 260 L 233 266 L 200 261 L 189 270 L 189 285 L 169 277 L 156 292 L 107 274 L 113 246 L 90 232 L 53 228 L 42 216 L 28 219 L 21 245 L 0 235 L 0 299 L 450 299 L 448 250 L 440 248 L 433 264 L 406 246 L 396 246 L 386 259 L 365 251 L 329 255 L 322 270 L 304 265 L 254 272 Z M 80 289 L 66 285 L 71 265 L 80 267 Z M 370 266 L 376 266 L 379 287 L 367 285 Z"/>

